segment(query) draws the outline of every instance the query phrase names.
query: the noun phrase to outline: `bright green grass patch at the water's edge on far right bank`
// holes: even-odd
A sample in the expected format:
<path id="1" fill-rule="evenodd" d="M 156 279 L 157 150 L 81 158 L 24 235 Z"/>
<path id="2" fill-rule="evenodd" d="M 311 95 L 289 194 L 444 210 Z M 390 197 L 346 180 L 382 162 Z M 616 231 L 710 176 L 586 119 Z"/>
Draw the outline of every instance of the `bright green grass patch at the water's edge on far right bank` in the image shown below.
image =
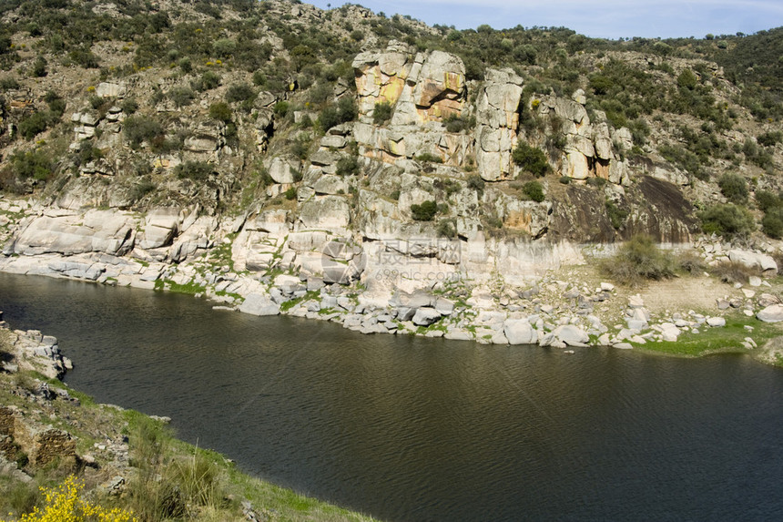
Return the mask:
<path id="1" fill-rule="evenodd" d="M 748 332 L 745 326 L 752 326 L 753 332 Z M 783 328 L 778 324 L 761 322 L 745 315 L 726 316 L 726 326 L 713 328 L 707 324 L 701 325 L 699 333 L 684 332 L 676 342 L 648 342 L 634 344 L 641 350 L 698 357 L 710 353 L 750 353 L 742 345 L 746 337 L 751 337 L 758 346 L 769 339 L 783 334 Z"/>

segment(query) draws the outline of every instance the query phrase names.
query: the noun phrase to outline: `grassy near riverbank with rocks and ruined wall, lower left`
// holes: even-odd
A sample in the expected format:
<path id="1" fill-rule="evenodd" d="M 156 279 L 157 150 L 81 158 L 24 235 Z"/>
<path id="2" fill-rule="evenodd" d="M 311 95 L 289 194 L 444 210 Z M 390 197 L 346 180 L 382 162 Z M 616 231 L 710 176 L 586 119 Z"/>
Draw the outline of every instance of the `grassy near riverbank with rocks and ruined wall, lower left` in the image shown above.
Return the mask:
<path id="1" fill-rule="evenodd" d="M 0 325 L 0 509 L 11 519 L 41 505 L 39 486 L 76 475 L 86 498 L 143 519 L 373 520 L 245 475 L 176 439 L 166 418 L 96 404 L 52 376 L 67 361 L 56 345 Z"/>

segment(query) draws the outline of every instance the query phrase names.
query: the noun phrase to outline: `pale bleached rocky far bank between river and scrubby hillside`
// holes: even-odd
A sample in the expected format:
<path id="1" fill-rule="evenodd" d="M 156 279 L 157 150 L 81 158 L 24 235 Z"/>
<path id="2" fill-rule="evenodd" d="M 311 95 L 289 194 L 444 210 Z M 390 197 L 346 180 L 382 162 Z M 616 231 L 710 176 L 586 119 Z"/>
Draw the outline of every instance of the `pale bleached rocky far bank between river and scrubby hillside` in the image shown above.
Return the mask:
<path id="1" fill-rule="evenodd" d="M 726 349 L 757 353 L 758 346 L 783 333 L 769 326 L 783 321 L 783 284 L 771 255 L 776 248 L 766 243 L 748 249 L 702 237 L 669 245 L 667 255 L 686 269 L 674 279 L 630 289 L 597 268 L 616 245 L 518 244 L 522 258 L 506 252 L 508 262 L 547 261 L 528 262 L 528 276 L 511 278 L 501 271 L 473 270 L 471 251 L 458 251 L 457 264 L 431 263 L 435 258 L 424 254 L 393 254 L 390 249 L 404 246 L 396 243 L 365 245 L 372 253 L 352 243 L 319 243 L 315 232 L 295 232 L 280 238 L 282 246 L 262 267 L 249 262 L 239 232 L 243 219 L 213 223 L 198 241 L 182 234 L 169 247 L 124 251 L 116 248 L 122 234 L 114 228 L 100 232 L 98 226 L 117 220 L 116 212 L 62 210 L 60 215 L 36 210 L 25 200 L 0 203 L 7 221 L 0 271 L 188 293 L 220 309 L 336 322 L 359 333 L 537 344 L 566 352 L 600 345 L 688 356 Z M 296 256 L 300 264 L 291 261 Z M 421 274 L 432 278 L 417 279 Z M 747 334 L 737 343 L 732 336 L 727 345 L 716 346 L 727 321 L 747 327 Z"/>

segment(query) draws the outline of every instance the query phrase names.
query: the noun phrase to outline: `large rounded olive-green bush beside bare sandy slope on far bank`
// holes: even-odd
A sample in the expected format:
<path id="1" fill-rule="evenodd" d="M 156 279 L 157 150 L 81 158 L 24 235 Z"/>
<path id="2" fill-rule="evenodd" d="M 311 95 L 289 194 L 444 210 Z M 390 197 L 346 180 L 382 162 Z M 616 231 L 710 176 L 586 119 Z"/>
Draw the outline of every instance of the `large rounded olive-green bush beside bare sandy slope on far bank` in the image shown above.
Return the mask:
<path id="1" fill-rule="evenodd" d="M 653 238 L 645 235 L 625 241 L 613 257 L 601 263 L 601 269 L 608 276 L 632 287 L 644 281 L 672 277 L 674 267 L 674 260 L 660 251 Z"/>

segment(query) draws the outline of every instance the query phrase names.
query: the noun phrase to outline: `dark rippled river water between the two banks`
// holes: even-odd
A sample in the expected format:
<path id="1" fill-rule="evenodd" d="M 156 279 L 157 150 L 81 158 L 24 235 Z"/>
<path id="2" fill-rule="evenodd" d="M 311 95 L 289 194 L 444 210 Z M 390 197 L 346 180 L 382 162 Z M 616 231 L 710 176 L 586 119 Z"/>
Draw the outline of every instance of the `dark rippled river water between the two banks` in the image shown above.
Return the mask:
<path id="1" fill-rule="evenodd" d="M 783 372 L 747 357 L 365 336 L 6 274 L 0 310 L 98 401 L 384 519 L 783 517 Z"/>

